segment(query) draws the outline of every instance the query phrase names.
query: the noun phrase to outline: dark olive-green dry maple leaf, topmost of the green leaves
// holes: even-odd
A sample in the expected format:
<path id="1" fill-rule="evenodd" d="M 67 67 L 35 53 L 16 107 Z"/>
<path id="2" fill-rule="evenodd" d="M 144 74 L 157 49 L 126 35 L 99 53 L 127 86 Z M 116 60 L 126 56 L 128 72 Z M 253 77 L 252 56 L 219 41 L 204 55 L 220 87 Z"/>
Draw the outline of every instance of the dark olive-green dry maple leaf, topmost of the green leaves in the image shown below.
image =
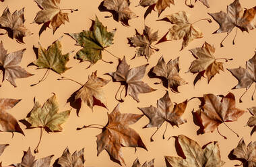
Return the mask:
<path id="1" fill-rule="evenodd" d="M 68 35 L 77 42 L 77 45 L 83 47 L 76 53 L 75 59 L 79 59 L 80 61 L 90 61 L 91 66 L 98 60 L 101 60 L 102 51 L 106 51 L 106 48 L 113 44 L 115 30 L 113 30 L 113 32 L 108 32 L 107 28 L 103 26 L 96 16 L 95 21 L 92 21 L 92 27 L 89 31 L 83 30 L 82 32 Z M 110 55 L 113 54 L 110 53 Z M 115 57 L 115 55 L 113 56 Z"/>

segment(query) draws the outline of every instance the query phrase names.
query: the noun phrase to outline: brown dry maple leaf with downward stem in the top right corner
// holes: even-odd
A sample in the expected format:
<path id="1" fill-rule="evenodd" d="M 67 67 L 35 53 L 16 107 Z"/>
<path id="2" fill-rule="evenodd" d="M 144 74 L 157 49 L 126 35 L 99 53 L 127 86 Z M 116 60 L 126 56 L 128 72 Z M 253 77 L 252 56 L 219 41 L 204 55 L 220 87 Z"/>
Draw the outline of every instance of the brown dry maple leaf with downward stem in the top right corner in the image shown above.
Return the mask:
<path id="1" fill-rule="evenodd" d="M 228 34 L 233 30 L 234 27 L 236 27 L 236 33 L 237 29 L 239 28 L 242 32 L 253 29 L 253 25 L 251 24 L 251 21 L 254 20 L 255 14 L 256 14 L 256 6 L 251 9 L 243 9 L 241 6 L 239 0 L 234 0 L 233 3 L 228 5 L 227 7 L 227 13 L 224 11 L 220 11 L 218 13 L 208 13 L 209 15 L 214 18 L 216 22 L 220 25 L 220 28 L 216 30 L 214 33 L 222 33 L 226 32 Z M 226 39 L 226 37 L 222 40 L 222 42 Z M 236 35 L 234 36 L 234 39 L 236 38 Z M 234 44 L 233 39 L 233 44 Z M 220 46 L 222 45 L 222 42 L 220 42 Z"/>

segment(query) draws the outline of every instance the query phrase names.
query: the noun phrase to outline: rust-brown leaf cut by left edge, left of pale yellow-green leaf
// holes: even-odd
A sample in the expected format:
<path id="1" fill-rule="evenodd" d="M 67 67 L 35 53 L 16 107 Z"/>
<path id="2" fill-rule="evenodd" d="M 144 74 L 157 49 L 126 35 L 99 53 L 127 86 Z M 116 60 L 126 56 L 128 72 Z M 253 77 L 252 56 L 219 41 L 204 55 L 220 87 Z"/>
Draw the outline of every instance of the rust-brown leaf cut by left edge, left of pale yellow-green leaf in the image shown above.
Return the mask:
<path id="1" fill-rule="evenodd" d="M 18 124 L 18 121 L 6 111 L 13 108 L 13 106 L 18 104 L 18 102 L 20 102 L 20 100 L 0 98 L 0 131 L 11 133 L 18 132 L 24 135 L 24 132 Z"/>

